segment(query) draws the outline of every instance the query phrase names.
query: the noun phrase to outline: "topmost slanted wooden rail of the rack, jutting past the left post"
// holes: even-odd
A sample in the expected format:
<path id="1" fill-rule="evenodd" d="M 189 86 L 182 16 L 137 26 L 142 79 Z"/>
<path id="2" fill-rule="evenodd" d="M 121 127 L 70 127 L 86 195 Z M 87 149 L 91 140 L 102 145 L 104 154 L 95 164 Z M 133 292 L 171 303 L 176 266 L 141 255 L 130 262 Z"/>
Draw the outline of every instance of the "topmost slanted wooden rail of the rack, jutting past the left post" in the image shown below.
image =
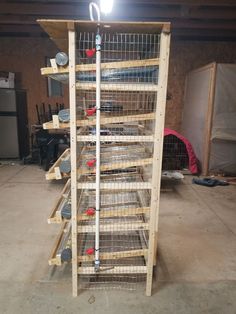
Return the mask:
<path id="1" fill-rule="evenodd" d="M 154 66 L 159 64 L 159 59 L 144 59 L 144 60 L 131 60 L 131 61 L 117 61 L 101 63 L 101 70 L 108 69 L 125 69 L 125 68 L 137 68 L 144 66 Z M 78 64 L 75 67 L 76 72 L 89 72 L 96 70 L 96 64 Z M 57 71 L 53 70 L 52 67 L 41 68 L 42 75 L 56 75 L 66 74 L 69 72 L 68 67 L 58 67 Z"/>

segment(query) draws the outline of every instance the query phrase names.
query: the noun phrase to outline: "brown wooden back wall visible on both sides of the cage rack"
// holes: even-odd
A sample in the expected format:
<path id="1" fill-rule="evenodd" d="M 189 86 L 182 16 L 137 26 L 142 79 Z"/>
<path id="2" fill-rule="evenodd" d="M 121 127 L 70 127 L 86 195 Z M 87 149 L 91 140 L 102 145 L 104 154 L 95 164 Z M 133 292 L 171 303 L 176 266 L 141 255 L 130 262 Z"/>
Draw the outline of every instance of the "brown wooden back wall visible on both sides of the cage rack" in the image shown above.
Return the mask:
<path id="1" fill-rule="evenodd" d="M 1 38 L 0 71 L 21 72 L 21 87 L 27 89 L 30 124 L 36 122 L 36 103 L 64 102 L 68 105 L 68 89 L 64 99 L 47 97 L 46 79 L 40 74 L 45 57 L 55 56 L 57 49 L 46 38 Z M 180 130 L 186 73 L 210 62 L 235 63 L 236 43 L 172 41 L 167 101 L 166 127 Z"/>

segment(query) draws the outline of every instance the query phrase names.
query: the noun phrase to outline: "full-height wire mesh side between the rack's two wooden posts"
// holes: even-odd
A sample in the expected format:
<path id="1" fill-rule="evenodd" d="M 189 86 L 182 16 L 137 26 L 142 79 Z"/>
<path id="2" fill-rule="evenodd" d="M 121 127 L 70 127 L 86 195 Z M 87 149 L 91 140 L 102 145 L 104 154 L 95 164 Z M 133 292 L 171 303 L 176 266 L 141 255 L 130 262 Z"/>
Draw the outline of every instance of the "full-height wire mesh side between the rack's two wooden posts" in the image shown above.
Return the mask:
<path id="1" fill-rule="evenodd" d="M 78 205 L 79 286 L 133 289 L 147 273 L 151 192 L 142 184 L 152 179 L 153 143 L 146 137 L 154 134 L 160 40 L 155 34 L 102 34 L 100 270 L 95 272 L 96 73 L 88 70 L 95 64 L 95 36 L 77 34 L 77 63 L 84 66 L 76 75 L 78 140 L 87 136 L 78 157 L 78 184 L 85 189 Z"/>

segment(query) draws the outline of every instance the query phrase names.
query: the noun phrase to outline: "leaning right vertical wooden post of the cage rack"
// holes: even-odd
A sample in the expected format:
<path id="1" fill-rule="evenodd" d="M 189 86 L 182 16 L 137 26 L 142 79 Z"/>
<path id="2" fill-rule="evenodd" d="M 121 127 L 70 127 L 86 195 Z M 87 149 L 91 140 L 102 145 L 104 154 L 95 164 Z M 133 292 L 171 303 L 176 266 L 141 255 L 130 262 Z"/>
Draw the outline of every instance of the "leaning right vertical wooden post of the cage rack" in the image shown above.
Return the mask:
<path id="1" fill-rule="evenodd" d="M 156 104 L 156 120 L 154 133 L 154 151 L 152 168 L 152 195 L 150 209 L 149 243 L 148 243 L 148 264 L 146 295 L 152 293 L 153 264 L 156 257 L 158 215 L 160 202 L 162 150 L 165 123 L 165 106 L 167 94 L 167 79 L 169 66 L 170 33 L 162 31 L 160 40 L 160 65 L 158 79 L 158 93 Z"/>

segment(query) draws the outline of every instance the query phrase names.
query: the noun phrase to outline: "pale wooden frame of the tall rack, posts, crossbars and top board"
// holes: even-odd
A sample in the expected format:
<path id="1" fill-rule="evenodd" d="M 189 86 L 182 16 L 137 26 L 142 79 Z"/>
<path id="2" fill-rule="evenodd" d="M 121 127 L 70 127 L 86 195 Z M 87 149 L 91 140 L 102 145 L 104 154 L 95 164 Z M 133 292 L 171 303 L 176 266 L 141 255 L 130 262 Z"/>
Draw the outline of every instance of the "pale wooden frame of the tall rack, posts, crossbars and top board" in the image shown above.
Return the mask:
<path id="1" fill-rule="evenodd" d="M 76 72 L 79 71 L 93 71 L 94 65 L 75 63 L 75 35 L 77 30 L 94 31 L 96 29 L 96 22 L 88 21 L 53 21 L 41 20 L 41 26 L 46 30 L 50 37 L 55 41 L 57 46 L 63 51 L 69 48 L 69 66 L 65 68 L 48 68 L 42 69 L 43 75 L 56 76 L 60 74 L 67 74 L 69 72 L 69 90 L 70 90 L 70 136 L 71 136 L 71 247 L 72 247 L 72 287 L 73 296 L 78 294 L 78 275 L 94 275 L 94 267 L 78 266 L 81 261 L 93 261 L 92 257 L 84 256 L 81 252 L 78 254 L 78 236 L 83 237 L 83 234 L 93 233 L 95 230 L 94 224 L 89 224 L 89 220 L 94 219 L 84 214 L 78 215 L 78 189 L 94 190 L 95 183 L 88 181 L 81 181 L 82 175 L 93 173 L 92 171 L 80 168 L 77 171 L 77 143 L 78 142 L 95 142 L 96 136 L 86 133 L 86 127 L 95 125 L 95 119 L 76 119 L 76 90 L 95 90 L 96 84 L 94 82 L 76 82 Z M 104 164 L 101 166 L 103 171 L 112 169 L 121 169 L 127 167 L 143 167 L 152 164 L 152 182 L 140 179 L 138 182 L 102 182 L 101 190 L 107 190 L 110 193 L 117 191 L 140 191 L 148 190 L 151 195 L 150 207 L 134 207 L 114 211 L 113 209 L 102 212 L 102 218 L 117 217 L 118 215 L 131 215 L 137 219 L 130 223 L 110 222 L 109 224 L 100 224 L 101 232 L 126 232 L 137 231 L 140 234 L 140 241 L 142 249 L 124 252 L 107 252 L 101 253 L 101 259 L 120 259 L 123 257 L 144 256 L 145 266 L 115 266 L 112 268 L 101 267 L 101 272 L 104 274 L 146 274 L 146 295 L 150 296 L 152 291 L 153 266 L 156 264 L 157 253 L 157 233 L 158 233 L 158 214 L 159 214 L 159 200 L 160 200 L 160 180 L 161 180 L 161 165 L 162 165 L 162 145 L 164 132 L 164 118 L 165 118 L 165 104 L 167 93 L 167 77 L 168 77 L 168 62 L 169 62 L 169 45 L 170 45 L 170 24 L 169 23 L 149 23 L 149 22 L 101 22 L 101 29 L 109 25 L 109 31 L 113 32 L 133 32 L 133 33 L 151 33 L 161 34 L 160 41 L 160 57 L 158 59 L 149 60 L 133 60 L 113 63 L 103 63 L 102 69 L 112 68 L 127 68 L 139 67 L 149 65 L 159 65 L 158 84 L 150 83 L 102 83 L 101 89 L 106 91 L 145 91 L 157 93 L 157 102 L 155 113 L 132 114 L 122 117 L 101 117 L 101 124 L 123 123 L 123 122 L 138 122 L 154 120 L 154 131 L 148 128 L 140 135 L 101 135 L 102 142 L 115 143 L 153 143 L 154 151 L 152 158 L 144 158 L 132 160 L 129 162 L 117 162 Z M 67 37 L 67 34 L 69 36 Z M 44 128 L 68 128 L 66 123 L 58 123 L 58 118 L 53 122 L 45 123 Z M 77 127 L 81 127 L 77 132 Z M 143 134 L 144 133 L 144 134 Z M 145 167 L 144 167 L 145 166 Z M 78 176 L 79 174 L 79 176 Z M 79 177 L 79 178 L 78 178 Z M 57 206 L 56 206 L 57 207 Z M 53 214 L 56 212 L 54 208 Z M 52 214 L 52 215 L 53 215 Z M 51 219 L 53 219 L 51 215 Z M 114 216 L 115 215 L 115 216 Z M 143 216 L 143 219 L 140 218 Z M 148 219 L 149 218 L 149 219 Z M 83 224 L 82 224 L 83 222 Z M 146 234 L 149 234 L 147 241 Z M 145 263 L 146 261 L 146 263 Z"/>

